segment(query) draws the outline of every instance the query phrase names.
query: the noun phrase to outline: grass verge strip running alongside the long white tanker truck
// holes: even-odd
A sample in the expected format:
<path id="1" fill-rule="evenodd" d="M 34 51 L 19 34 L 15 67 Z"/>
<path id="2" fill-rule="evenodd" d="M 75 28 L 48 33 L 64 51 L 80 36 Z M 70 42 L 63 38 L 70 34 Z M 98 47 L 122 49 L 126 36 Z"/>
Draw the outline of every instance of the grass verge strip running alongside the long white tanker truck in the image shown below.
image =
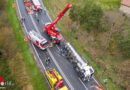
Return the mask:
<path id="1" fill-rule="evenodd" d="M 103 84 L 105 88 L 107 88 L 108 90 L 123 90 L 123 88 L 120 88 L 117 85 L 115 85 L 115 83 L 112 82 L 111 79 L 109 79 L 109 77 L 103 75 L 104 69 L 94 62 L 94 60 L 92 59 L 92 55 L 91 53 L 89 53 L 89 51 L 84 50 L 83 46 L 81 44 L 78 44 L 76 40 L 73 40 L 72 45 L 77 50 L 77 52 L 79 52 L 79 54 L 88 61 L 88 64 L 93 66 L 97 79 Z M 104 60 L 105 57 L 99 56 L 99 58 Z M 103 79 L 108 79 L 107 83 L 104 83 Z"/>

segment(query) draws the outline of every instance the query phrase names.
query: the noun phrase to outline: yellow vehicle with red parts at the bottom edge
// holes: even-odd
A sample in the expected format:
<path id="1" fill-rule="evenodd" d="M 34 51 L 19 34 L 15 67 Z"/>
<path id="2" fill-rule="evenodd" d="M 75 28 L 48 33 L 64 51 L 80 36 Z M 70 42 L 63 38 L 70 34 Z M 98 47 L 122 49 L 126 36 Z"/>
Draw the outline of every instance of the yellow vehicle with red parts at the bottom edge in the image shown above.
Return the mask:
<path id="1" fill-rule="evenodd" d="M 45 75 L 51 85 L 52 90 L 68 90 L 68 88 L 64 85 L 63 78 L 54 68 L 49 68 L 46 70 Z"/>

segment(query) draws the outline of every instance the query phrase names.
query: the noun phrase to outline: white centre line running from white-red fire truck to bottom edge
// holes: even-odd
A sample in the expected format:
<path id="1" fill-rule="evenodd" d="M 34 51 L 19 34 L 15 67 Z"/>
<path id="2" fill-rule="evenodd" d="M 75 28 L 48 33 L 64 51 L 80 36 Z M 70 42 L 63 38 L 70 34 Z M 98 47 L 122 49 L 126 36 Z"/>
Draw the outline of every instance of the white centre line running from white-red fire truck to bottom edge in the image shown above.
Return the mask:
<path id="1" fill-rule="evenodd" d="M 52 55 L 50 49 L 48 48 L 47 51 L 49 52 L 49 55 L 51 56 L 52 60 L 54 61 L 55 65 L 57 66 L 57 68 L 59 69 L 59 71 L 61 72 L 62 76 L 64 77 L 65 81 L 68 83 L 68 86 L 71 88 L 71 90 L 74 90 L 74 87 L 70 84 L 69 80 L 67 79 L 67 77 L 65 76 L 64 72 L 61 70 L 60 66 L 58 65 L 58 63 L 56 62 L 54 56 Z"/>

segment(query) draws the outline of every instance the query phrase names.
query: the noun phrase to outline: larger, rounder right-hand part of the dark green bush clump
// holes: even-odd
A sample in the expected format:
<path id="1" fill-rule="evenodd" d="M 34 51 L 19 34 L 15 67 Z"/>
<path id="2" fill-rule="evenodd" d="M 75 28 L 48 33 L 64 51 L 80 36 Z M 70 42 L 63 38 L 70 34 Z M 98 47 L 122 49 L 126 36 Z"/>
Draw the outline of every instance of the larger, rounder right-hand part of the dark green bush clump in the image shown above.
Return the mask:
<path id="1" fill-rule="evenodd" d="M 80 13 L 80 25 L 85 30 L 97 30 L 101 26 L 103 11 L 93 3 L 86 3 Z"/>

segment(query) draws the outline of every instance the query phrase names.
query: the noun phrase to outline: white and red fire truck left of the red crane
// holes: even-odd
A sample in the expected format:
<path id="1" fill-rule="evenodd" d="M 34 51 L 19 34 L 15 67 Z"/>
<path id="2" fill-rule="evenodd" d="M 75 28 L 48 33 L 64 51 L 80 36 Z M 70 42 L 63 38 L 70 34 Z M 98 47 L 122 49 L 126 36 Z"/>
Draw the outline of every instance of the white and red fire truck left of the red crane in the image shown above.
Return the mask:
<path id="1" fill-rule="evenodd" d="M 35 31 L 30 31 L 28 33 L 28 39 L 41 50 L 45 50 L 49 45 L 48 41 Z"/>

